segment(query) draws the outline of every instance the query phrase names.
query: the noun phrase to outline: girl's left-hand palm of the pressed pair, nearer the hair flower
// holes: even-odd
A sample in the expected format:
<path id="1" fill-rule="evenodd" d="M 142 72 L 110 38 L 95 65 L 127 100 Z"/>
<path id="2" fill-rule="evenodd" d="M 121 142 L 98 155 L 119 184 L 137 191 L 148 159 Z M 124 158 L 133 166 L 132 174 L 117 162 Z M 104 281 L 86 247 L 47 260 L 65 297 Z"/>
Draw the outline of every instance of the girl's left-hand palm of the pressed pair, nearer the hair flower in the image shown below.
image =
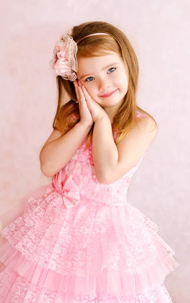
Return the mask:
<path id="1" fill-rule="evenodd" d="M 86 99 L 85 96 L 83 94 L 83 91 L 81 89 L 81 82 L 78 80 L 78 82 L 76 80 L 73 81 L 74 87 L 75 87 L 75 91 L 76 91 L 76 97 L 78 100 L 78 108 L 79 108 L 79 112 L 80 112 L 80 123 L 85 125 L 86 127 L 91 127 L 93 125 L 93 119 L 91 116 L 91 113 L 87 107 L 86 104 Z"/>

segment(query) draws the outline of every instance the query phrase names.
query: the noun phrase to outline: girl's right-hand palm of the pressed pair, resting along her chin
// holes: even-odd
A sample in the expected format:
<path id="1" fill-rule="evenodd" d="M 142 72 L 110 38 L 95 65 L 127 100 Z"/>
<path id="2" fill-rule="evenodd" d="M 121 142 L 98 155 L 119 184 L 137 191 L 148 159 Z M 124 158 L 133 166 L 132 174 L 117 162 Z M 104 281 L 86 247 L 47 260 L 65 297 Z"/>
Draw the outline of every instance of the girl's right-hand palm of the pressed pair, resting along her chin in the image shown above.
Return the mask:
<path id="1" fill-rule="evenodd" d="M 81 82 L 78 80 L 77 83 L 78 83 L 78 86 L 80 86 L 82 89 L 82 92 L 83 92 L 84 98 L 86 100 L 87 107 L 91 113 L 93 122 L 95 122 L 99 118 L 103 118 L 106 116 L 108 117 L 105 110 L 96 101 L 94 101 L 91 98 L 91 96 L 89 95 L 89 93 L 87 92 L 85 87 L 81 84 Z"/>

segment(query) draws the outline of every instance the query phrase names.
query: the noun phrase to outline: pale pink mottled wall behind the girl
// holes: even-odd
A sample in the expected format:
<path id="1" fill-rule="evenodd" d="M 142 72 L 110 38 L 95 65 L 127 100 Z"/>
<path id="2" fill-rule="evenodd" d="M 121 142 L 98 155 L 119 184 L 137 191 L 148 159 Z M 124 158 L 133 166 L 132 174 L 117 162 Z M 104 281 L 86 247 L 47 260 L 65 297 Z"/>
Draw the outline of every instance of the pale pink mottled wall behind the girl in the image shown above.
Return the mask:
<path id="1" fill-rule="evenodd" d="M 135 173 L 131 200 L 159 226 L 180 267 L 165 285 L 173 303 L 189 286 L 189 12 L 187 0 L 39 0 L 1 4 L 1 213 L 51 179 L 39 152 L 52 132 L 56 82 L 48 61 L 54 42 L 74 24 L 107 21 L 130 39 L 139 60 L 138 104 L 158 132 Z"/>

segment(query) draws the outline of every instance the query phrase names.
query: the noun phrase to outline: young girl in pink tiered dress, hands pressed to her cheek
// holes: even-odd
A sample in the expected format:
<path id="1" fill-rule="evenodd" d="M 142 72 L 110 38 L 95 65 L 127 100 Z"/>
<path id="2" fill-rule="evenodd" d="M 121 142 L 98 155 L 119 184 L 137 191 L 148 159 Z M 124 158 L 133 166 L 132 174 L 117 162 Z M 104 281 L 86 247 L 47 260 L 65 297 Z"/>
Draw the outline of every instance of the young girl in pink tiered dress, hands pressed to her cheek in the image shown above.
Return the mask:
<path id="1" fill-rule="evenodd" d="M 58 107 L 40 163 L 52 183 L 2 218 L 1 303 L 171 302 L 163 283 L 179 265 L 174 251 L 126 199 L 157 129 L 136 104 L 129 40 L 86 22 L 61 37 L 50 63 Z"/>

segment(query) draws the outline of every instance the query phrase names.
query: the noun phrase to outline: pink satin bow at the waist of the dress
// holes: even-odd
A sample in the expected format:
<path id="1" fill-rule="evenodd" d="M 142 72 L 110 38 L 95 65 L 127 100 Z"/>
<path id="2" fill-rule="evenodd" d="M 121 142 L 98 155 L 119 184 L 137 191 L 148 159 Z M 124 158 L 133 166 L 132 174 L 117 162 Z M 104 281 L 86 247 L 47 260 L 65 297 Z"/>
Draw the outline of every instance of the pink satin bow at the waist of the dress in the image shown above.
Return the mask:
<path id="1" fill-rule="evenodd" d="M 79 189 L 72 180 L 71 176 L 68 177 L 64 185 L 61 183 L 61 177 L 61 171 L 52 177 L 52 184 L 47 188 L 45 197 L 47 197 L 50 193 L 57 191 L 62 195 L 63 205 L 66 208 L 74 207 L 80 201 Z"/>

